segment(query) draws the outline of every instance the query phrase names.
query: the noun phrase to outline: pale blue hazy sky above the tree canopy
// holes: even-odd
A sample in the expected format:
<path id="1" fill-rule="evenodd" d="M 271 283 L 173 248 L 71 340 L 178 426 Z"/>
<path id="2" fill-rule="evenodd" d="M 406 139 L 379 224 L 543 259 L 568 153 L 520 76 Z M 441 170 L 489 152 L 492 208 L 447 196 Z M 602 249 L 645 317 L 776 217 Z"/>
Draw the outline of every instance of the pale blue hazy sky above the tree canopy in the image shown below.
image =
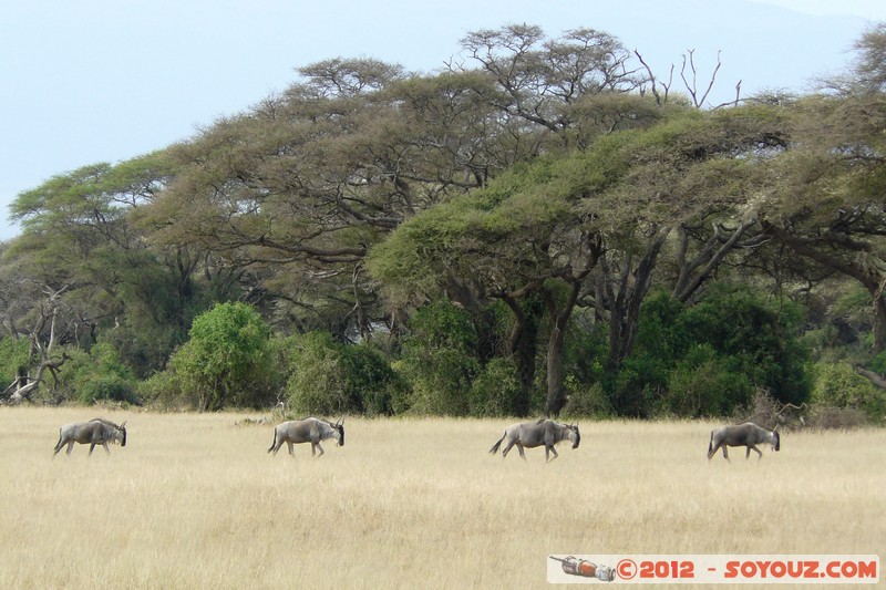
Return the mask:
<path id="1" fill-rule="evenodd" d="M 28 0 L 0 14 L 0 239 L 8 204 L 51 176 L 190 137 L 297 80 L 371 56 L 432 72 L 468 31 L 513 22 L 590 27 L 660 75 L 694 50 L 718 89 L 806 90 L 886 21 L 883 0 Z M 718 101 L 719 102 L 719 101 Z"/>

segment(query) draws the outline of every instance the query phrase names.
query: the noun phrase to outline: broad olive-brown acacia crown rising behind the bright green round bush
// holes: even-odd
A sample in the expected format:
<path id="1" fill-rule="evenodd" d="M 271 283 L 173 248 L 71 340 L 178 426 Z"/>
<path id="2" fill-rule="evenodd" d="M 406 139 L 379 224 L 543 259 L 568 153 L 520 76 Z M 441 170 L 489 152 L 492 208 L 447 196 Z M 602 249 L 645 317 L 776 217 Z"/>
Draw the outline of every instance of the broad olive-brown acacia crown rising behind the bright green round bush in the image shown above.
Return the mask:
<path id="1" fill-rule="evenodd" d="M 457 118 L 460 91 L 409 84 L 392 97 L 381 90 L 402 77 L 399 68 L 372 60 L 333 60 L 302 74 L 307 82 L 282 96 L 177 146 L 184 172 L 152 215 L 159 239 L 248 269 L 277 313 L 365 337 L 374 319 L 360 269 L 368 245 L 450 187 L 473 186 L 465 172 L 474 164 L 452 170 L 453 156 L 472 161 L 465 149 L 424 151 L 429 124 L 409 111 L 399 116 L 395 103 L 413 97 L 430 110 L 436 101 Z"/>

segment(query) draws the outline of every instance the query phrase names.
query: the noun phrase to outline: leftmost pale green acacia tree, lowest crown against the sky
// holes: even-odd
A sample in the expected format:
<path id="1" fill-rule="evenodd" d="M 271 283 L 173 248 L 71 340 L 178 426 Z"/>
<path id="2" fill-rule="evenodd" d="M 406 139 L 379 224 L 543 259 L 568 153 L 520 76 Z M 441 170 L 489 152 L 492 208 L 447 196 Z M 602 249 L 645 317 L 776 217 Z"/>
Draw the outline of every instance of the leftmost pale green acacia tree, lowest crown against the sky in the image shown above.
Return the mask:
<path id="1" fill-rule="evenodd" d="M 18 272 L 56 290 L 74 286 L 62 297 L 80 330 L 60 333 L 60 342 L 89 348 L 103 331 L 126 343 L 121 352 L 140 375 L 165 363 L 199 307 L 194 273 L 202 258 L 187 247 L 156 248 L 138 222 L 176 174 L 167 156 L 83 166 L 10 207 L 23 228 L 6 252 L 19 260 Z"/>

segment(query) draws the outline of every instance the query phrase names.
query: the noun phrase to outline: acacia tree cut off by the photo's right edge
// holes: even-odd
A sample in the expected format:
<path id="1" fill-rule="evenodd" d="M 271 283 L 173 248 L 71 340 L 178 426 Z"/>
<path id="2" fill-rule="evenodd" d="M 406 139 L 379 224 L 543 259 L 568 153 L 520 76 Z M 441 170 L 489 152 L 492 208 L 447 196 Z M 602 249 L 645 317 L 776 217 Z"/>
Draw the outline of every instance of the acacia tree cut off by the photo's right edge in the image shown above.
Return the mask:
<path id="1" fill-rule="evenodd" d="M 886 25 L 856 44 L 847 75 L 792 108 L 791 149 L 774 163 L 765 235 L 869 293 L 875 351 L 886 349 Z"/>

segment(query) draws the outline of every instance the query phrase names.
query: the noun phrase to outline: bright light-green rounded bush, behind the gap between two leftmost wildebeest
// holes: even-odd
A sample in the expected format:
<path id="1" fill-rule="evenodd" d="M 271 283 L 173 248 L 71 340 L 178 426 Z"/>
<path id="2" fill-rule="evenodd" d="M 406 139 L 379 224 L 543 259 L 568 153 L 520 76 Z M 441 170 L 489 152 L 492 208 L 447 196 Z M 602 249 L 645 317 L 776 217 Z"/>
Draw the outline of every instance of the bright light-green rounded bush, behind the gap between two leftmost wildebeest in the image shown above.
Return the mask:
<path id="1" fill-rule="evenodd" d="M 190 340 L 169 361 L 183 395 L 200 410 L 268 403 L 269 337 L 265 321 L 245 303 L 219 303 L 197 317 Z"/>

